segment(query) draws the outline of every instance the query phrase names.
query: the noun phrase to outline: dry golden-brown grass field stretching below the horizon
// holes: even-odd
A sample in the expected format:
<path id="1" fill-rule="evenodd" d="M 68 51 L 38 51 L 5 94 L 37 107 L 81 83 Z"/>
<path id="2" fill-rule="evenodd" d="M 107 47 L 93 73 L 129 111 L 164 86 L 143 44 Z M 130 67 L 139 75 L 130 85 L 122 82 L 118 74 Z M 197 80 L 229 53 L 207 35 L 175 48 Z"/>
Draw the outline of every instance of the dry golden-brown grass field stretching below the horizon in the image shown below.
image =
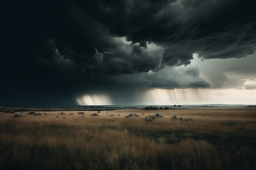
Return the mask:
<path id="1" fill-rule="evenodd" d="M 0 169 L 256 169 L 255 107 L 94 113 L 0 112 Z M 145 120 L 156 113 L 163 117 Z"/>

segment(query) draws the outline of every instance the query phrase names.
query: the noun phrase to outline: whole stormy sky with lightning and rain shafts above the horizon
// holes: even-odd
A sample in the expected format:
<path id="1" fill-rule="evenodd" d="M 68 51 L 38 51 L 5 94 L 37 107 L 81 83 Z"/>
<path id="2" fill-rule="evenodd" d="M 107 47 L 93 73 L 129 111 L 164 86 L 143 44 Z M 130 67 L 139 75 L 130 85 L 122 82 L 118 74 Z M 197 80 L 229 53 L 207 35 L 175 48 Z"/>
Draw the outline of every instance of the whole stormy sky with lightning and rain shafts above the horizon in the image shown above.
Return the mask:
<path id="1" fill-rule="evenodd" d="M 0 3 L 1 106 L 256 104 L 255 0 Z"/>

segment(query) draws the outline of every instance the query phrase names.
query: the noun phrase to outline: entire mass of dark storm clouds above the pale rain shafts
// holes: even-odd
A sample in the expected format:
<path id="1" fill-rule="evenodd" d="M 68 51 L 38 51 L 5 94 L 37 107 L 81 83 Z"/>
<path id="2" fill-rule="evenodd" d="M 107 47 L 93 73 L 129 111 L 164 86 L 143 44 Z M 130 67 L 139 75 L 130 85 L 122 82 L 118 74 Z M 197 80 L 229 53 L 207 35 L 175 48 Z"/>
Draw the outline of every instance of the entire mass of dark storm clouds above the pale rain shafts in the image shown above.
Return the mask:
<path id="1" fill-rule="evenodd" d="M 7 90 L 1 93 L 27 92 L 32 99 L 35 91 L 72 97 L 102 85 L 223 87 L 221 71 L 206 71 L 203 79 L 198 68 L 180 66 L 189 66 L 194 53 L 202 59 L 252 55 L 255 6 L 254 0 L 3 3 L 0 72 Z"/>

